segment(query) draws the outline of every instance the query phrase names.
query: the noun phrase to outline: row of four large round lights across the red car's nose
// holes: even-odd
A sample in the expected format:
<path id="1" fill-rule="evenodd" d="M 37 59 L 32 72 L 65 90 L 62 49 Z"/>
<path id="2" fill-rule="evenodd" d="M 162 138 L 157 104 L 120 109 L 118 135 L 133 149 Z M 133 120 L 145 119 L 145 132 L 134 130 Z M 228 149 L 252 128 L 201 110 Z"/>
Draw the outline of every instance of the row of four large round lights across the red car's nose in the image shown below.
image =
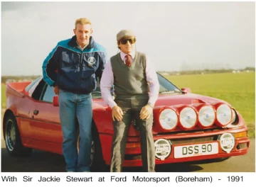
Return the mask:
<path id="1" fill-rule="evenodd" d="M 225 126 L 234 123 L 236 113 L 226 104 L 218 106 L 203 105 L 200 107 L 183 107 L 180 110 L 166 108 L 159 115 L 159 123 L 164 130 L 174 130 L 177 125 L 183 129 L 191 129 L 197 123 L 201 128 L 209 128 L 214 123 Z"/>

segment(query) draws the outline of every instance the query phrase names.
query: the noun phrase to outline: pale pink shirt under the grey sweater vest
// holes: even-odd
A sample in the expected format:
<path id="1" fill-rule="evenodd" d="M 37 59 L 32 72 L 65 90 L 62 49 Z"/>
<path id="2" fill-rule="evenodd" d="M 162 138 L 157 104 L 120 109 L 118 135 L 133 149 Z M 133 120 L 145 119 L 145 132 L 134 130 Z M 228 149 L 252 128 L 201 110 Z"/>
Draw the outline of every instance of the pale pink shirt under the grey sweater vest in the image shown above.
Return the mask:
<path id="1" fill-rule="evenodd" d="M 121 55 L 122 61 L 124 61 L 124 64 L 125 64 L 125 60 L 126 60 L 125 55 L 127 54 L 121 51 L 120 55 Z M 132 60 L 133 60 L 135 57 L 135 52 L 132 52 L 132 54 L 130 55 L 132 55 Z M 151 105 L 154 106 L 159 96 L 159 81 L 158 81 L 154 66 L 151 64 L 151 61 L 147 56 L 146 56 L 145 72 L 146 72 L 146 81 L 149 84 L 149 103 L 151 103 Z M 100 91 L 102 94 L 102 98 L 110 106 L 110 108 L 117 106 L 117 103 L 114 102 L 113 96 L 111 95 L 111 92 L 110 92 L 113 84 L 114 84 L 114 76 L 112 72 L 112 65 L 109 60 L 102 73 L 102 78 L 100 81 Z"/>

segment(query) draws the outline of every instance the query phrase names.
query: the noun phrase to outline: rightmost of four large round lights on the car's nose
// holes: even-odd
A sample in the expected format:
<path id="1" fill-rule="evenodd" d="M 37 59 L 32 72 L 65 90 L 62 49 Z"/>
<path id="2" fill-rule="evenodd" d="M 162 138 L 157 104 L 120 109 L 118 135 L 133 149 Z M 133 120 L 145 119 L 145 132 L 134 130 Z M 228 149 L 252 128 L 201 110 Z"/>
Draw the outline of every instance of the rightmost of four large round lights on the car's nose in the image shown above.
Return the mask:
<path id="1" fill-rule="evenodd" d="M 221 125 L 228 125 L 231 120 L 231 108 L 225 104 L 217 108 L 217 120 Z"/>

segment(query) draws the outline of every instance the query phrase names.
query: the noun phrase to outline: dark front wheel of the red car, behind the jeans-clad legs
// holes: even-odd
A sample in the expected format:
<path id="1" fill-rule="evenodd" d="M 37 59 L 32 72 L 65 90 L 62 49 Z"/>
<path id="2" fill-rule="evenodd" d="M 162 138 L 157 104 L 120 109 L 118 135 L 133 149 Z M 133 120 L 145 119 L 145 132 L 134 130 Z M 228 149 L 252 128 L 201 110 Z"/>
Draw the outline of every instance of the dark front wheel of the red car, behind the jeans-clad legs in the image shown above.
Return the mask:
<path id="1" fill-rule="evenodd" d="M 80 135 L 78 130 L 77 135 L 77 149 L 79 152 L 79 142 L 80 142 Z M 98 172 L 98 171 L 108 171 L 107 164 L 103 159 L 102 155 L 102 146 L 100 143 L 100 137 L 97 132 L 97 128 L 95 125 L 92 125 L 92 146 L 91 146 L 91 171 Z"/>

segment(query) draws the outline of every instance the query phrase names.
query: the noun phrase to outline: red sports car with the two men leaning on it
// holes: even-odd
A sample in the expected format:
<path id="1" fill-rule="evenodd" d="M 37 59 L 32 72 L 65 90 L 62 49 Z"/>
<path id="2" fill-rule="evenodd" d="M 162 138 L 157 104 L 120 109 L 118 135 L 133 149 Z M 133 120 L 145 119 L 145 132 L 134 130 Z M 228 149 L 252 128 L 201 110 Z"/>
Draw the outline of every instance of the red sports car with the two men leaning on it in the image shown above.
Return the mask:
<path id="1" fill-rule="evenodd" d="M 156 164 L 226 159 L 246 154 L 250 145 L 242 115 L 217 98 L 178 89 L 158 74 L 160 90 L 154 107 L 153 135 Z M 92 93 L 92 170 L 110 165 L 112 110 Z M 139 130 L 130 125 L 123 166 L 142 166 Z M 31 154 L 32 149 L 62 154 L 58 97 L 39 77 L 32 82 L 6 86 L 4 140 L 11 156 Z M 78 144 L 79 144 L 78 136 Z M 79 151 L 79 150 L 78 150 Z"/>

